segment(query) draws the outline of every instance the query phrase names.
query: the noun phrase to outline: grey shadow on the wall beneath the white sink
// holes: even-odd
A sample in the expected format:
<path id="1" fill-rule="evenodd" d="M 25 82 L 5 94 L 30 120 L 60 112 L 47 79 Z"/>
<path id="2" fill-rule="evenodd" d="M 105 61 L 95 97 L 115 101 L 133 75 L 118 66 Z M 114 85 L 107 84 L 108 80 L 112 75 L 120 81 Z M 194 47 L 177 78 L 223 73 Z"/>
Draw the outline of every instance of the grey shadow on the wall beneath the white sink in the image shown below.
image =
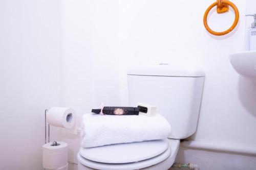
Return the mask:
<path id="1" fill-rule="evenodd" d="M 256 82 L 240 77 L 238 81 L 239 100 L 245 109 L 256 117 Z"/>

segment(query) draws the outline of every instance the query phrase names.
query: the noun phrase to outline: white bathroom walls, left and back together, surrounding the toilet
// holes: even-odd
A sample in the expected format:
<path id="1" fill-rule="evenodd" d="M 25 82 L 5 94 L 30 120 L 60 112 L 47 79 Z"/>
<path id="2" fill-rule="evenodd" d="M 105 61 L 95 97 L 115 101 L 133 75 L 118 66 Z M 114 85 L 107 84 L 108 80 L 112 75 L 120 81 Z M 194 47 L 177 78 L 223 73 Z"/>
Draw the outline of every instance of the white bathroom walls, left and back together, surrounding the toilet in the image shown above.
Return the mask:
<path id="1" fill-rule="evenodd" d="M 214 37 L 202 22 L 208 1 L 1 1 L 0 169 L 41 169 L 46 108 L 69 106 L 81 116 L 100 102 L 128 105 L 126 68 L 160 62 L 199 65 L 206 72 L 198 130 L 190 140 L 255 148 L 256 85 L 240 78 L 228 60 L 245 49 L 246 1 L 232 2 L 240 10 L 238 28 Z M 232 19 L 232 12 L 211 13 L 209 25 L 219 31 Z M 79 136 L 61 139 L 76 162 Z M 252 169 L 256 161 L 186 148 L 177 160 L 202 169 Z"/>

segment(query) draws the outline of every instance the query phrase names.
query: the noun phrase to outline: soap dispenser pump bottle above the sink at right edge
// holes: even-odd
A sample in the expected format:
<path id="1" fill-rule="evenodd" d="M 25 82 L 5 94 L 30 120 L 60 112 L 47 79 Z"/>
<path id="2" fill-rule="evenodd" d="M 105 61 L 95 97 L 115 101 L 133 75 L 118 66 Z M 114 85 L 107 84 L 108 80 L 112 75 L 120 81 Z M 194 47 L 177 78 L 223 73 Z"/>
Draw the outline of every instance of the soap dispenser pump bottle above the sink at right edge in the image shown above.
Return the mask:
<path id="1" fill-rule="evenodd" d="M 254 21 L 251 23 L 251 28 L 248 30 L 246 38 L 246 50 L 256 50 L 256 14 L 248 14 L 245 16 L 253 16 Z"/>

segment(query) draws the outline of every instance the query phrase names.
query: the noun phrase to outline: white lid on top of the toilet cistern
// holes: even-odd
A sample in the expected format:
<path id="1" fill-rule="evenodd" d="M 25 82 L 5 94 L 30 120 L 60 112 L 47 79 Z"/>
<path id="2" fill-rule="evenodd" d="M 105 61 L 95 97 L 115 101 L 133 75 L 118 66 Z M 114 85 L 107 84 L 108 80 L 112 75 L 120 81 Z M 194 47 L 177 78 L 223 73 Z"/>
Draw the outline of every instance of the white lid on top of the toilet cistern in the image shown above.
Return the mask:
<path id="1" fill-rule="evenodd" d="M 204 77 L 204 70 L 191 66 L 155 65 L 133 66 L 127 75 L 166 76 L 166 77 Z"/>

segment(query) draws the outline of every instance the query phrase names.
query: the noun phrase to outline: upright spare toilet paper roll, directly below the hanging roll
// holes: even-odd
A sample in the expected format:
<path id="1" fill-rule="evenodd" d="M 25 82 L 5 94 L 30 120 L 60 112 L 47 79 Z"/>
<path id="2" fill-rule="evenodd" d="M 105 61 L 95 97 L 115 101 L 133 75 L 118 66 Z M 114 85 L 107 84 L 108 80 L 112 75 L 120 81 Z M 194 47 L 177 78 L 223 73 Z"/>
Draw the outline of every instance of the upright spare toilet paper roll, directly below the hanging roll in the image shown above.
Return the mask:
<path id="1" fill-rule="evenodd" d="M 42 167 L 57 169 L 68 163 L 68 144 L 58 141 L 59 145 L 52 146 L 52 142 L 42 145 Z"/>

